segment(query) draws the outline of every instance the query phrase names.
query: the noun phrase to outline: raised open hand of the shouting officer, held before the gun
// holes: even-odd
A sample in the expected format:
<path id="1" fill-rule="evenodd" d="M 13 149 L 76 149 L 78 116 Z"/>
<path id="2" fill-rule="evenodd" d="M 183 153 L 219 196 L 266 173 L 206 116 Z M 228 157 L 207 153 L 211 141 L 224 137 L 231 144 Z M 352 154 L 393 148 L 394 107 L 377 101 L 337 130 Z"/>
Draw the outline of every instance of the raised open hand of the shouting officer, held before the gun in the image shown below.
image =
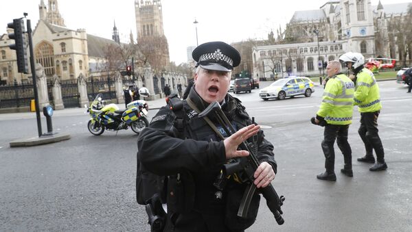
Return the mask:
<path id="1" fill-rule="evenodd" d="M 239 144 L 244 142 L 244 140 L 247 140 L 251 136 L 258 133 L 259 129 L 260 126 L 249 125 L 236 131 L 236 133 L 233 133 L 233 135 L 229 136 L 229 138 L 226 138 L 223 141 L 225 143 L 226 159 L 231 159 L 233 157 L 248 156 L 249 151 L 238 151 L 238 146 Z"/>

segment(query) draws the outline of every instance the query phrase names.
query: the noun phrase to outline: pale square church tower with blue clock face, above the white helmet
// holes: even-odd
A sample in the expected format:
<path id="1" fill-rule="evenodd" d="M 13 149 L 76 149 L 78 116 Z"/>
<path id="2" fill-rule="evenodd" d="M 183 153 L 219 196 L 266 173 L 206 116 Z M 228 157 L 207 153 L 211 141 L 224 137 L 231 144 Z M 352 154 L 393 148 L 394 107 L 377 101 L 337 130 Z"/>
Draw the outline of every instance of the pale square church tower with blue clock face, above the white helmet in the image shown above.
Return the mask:
<path id="1" fill-rule="evenodd" d="M 375 54 L 374 16 L 370 0 L 341 0 L 342 37 L 347 39 L 344 51 L 361 51 L 367 57 Z"/>

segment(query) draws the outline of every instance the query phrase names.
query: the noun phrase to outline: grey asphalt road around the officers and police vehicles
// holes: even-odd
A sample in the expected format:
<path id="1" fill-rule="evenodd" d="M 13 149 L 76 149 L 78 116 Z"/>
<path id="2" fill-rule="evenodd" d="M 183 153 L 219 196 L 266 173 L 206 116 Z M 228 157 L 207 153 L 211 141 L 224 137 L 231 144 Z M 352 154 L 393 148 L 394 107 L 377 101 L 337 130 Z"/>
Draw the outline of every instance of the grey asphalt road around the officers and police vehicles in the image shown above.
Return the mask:
<path id="1" fill-rule="evenodd" d="M 273 185 L 286 197 L 284 225 L 276 224 L 262 199 L 247 231 L 412 231 L 412 95 L 395 81 L 379 85 L 378 123 L 389 168 L 369 172 L 368 164 L 356 162 L 364 148 L 355 109 L 349 134 L 354 177 L 337 172 L 336 183 L 316 179 L 323 172 L 323 129 L 309 119 L 321 102 L 320 86 L 309 98 L 283 101 L 262 101 L 258 90 L 234 94 L 265 126 L 278 163 Z M 0 231 L 149 231 L 144 207 L 135 201 L 137 135 L 92 136 L 89 116 L 76 112 L 53 118 L 54 131 L 70 133 L 70 140 L 13 149 L 8 142 L 36 136 L 36 119 L 0 115 Z M 335 169 L 342 166 L 336 146 Z"/>

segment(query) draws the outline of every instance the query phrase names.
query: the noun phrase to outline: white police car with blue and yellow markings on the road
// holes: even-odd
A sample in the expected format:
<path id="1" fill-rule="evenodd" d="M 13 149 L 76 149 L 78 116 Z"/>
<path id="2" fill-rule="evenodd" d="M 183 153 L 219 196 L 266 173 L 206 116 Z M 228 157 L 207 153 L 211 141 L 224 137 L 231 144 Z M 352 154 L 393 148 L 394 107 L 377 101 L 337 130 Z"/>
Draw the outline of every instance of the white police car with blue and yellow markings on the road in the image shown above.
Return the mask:
<path id="1" fill-rule="evenodd" d="M 264 101 L 268 99 L 283 100 L 286 96 L 310 96 L 314 92 L 314 83 L 308 77 L 287 77 L 278 79 L 270 86 L 263 88 L 259 96 Z"/>

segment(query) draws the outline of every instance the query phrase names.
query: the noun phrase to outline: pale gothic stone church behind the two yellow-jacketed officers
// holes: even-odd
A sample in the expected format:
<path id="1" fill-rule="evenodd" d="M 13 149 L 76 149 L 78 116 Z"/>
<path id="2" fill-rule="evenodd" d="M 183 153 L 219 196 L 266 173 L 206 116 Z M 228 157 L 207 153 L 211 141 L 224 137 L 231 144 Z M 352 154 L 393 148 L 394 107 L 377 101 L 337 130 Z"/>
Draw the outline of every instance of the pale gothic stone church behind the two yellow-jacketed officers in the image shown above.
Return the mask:
<path id="1" fill-rule="evenodd" d="M 319 10 L 295 12 L 286 29 L 277 31 L 274 44 L 253 48 L 253 76 L 320 75 L 323 61 L 347 51 L 400 59 L 388 24 L 410 20 L 408 8 L 409 3 L 331 0 Z"/>

